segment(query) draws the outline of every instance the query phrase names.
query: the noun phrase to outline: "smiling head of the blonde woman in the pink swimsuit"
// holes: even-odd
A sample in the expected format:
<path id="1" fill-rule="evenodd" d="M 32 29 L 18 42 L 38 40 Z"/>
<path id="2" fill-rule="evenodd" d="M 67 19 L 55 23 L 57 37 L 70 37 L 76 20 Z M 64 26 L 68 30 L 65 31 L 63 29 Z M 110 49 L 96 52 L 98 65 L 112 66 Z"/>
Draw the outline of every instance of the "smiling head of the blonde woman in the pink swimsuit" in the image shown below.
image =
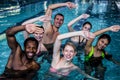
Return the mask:
<path id="1" fill-rule="evenodd" d="M 75 47 L 72 45 L 66 45 L 64 49 L 62 50 L 64 59 L 67 61 L 71 61 L 73 57 L 76 55 Z"/>

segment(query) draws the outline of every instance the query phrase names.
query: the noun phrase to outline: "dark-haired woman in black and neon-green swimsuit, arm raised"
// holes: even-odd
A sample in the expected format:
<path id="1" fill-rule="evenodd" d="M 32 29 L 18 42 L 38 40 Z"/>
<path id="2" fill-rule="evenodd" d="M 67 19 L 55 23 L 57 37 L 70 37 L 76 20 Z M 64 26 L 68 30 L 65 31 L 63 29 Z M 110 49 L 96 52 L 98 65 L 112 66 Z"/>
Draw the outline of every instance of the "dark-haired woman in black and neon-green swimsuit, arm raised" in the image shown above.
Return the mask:
<path id="1" fill-rule="evenodd" d="M 94 35 L 98 36 L 107 31 L 117 32 L 119 30 L 120 26 L 115 25 L 99 30 L 95 32 Z M 95 71 L 94 76 L 100 80 L 104 80 L 104 73 L 106 68 L 103 66 L 102 60 L 106 58 L 110 61 L 113 61 L 115 64 L 120 65 L 120 63 L 114 60 L 112 58 L 112 55 L 109 55 L 104 50 L 111 41 L 111 37 L 108 34 L 102 34 L 98 38 L 97 44 L 95 46 L 92 46 L 93 40 L 94 40 L 93 38 L 90 38 L 85 46 L 85 62 L 84 62 L 85 72 L 90 75 L 93 71 Z"/>

